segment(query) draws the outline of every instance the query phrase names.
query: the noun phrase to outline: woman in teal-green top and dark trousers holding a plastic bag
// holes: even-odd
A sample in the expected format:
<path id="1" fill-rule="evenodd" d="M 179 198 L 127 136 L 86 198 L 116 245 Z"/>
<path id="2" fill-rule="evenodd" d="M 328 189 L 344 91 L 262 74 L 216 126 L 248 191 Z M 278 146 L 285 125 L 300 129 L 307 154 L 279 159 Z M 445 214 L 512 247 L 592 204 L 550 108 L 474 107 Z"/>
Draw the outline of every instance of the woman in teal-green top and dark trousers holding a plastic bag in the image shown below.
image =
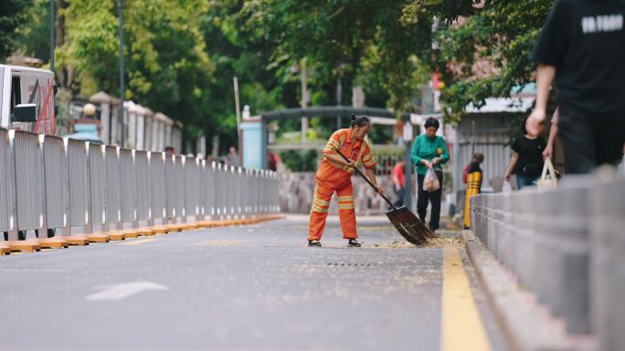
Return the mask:
<path id="1" fill-rule="evenodd" d="M 428 201 L 432 204 L 432 212 L 429 218 L 429 229 L 439 229 L 440 220 L 440 196 L 442 195 L 442 169 L 440 165 L 450 160 L 445 139 L 436 135 L 440 124 L 438 119 L 426 119 L 426 133 L 419 135 L 412 144 L 410 159 L 417 166 L 417 213 L 421 222 L 425 223 L 428 211 Z M 433 167 L 439 178 L 440 188 L 438 191 L 424 191 L 423 180 L 429 167 Z"/>

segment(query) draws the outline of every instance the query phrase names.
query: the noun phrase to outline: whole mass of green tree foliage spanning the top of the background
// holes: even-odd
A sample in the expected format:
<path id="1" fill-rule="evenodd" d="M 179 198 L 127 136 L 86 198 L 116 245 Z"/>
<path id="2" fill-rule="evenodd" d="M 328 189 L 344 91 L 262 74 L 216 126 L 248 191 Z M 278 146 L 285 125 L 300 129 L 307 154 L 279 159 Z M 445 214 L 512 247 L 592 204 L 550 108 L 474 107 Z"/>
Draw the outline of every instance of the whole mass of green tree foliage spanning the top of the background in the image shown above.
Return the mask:
<path id="1" fill-rule="evenodd" d="M 65 36 L 57 67 L 76 73 L 66 88 L 82 98 L 99 90 L 117 96 L 117 1 L 61 3 Z M 299 107 L 305 57 L 311 105 L 351 105 L 352 88 L 363 87 L 367 106 L 412 111 L 422 85 L 438 71 L 447 118 L 458 120 L 469 103 L 482 106 L 485 98 L 507 97 L 531 81 L 528 54 L 551 5 L 553 0 L 124 1 L 125 98 L 182 120 L 187 136 L 218 135 L 227 148 L 237 141 L 233 77 L 240 105 L 249 105 L 252 115 Z M 15 47 L 48 59 L 48 6 L 48 0 L 0 2 L 0 59 Z M 300 129 L 299 119 L 280 123 L 279 138 Z M 335 124 L 312 119 L 308 137 L 326 139 Z M 387 134 L 376 130 L 372 139 L 384 142 Z"/>

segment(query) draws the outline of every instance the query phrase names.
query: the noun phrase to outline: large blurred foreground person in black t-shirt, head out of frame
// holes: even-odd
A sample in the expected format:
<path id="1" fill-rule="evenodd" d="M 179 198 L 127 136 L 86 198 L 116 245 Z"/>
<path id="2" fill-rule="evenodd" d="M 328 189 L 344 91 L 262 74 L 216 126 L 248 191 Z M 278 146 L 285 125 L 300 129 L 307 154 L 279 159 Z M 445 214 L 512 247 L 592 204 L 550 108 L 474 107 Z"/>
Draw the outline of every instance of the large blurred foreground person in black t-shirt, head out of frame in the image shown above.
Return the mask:
<path id="1" fill-rule="evenodd" d="M 625 0 L 558 0 L 535 46 L 536 103 L 527 128 L 546 118 L 556 81 L 568 173 L 616 164 L 625 143 Z"/>

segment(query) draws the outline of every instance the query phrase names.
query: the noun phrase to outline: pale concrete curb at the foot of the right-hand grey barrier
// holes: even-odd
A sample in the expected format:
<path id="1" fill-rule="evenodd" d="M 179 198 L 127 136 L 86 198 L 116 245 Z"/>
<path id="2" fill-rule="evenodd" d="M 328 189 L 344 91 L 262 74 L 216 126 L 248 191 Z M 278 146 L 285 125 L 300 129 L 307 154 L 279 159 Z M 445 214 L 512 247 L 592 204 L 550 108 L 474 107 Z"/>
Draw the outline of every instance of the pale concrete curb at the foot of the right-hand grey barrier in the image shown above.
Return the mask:
<path id="1" fill-rule="evenodd" d="M 588 337 L 572 340 L 562 321 L 554 319 L 524 291 L 471 231 L 461 232 L 462 242 L 493 309 L 503 335 L 513 351 L 592 351 Z"/>

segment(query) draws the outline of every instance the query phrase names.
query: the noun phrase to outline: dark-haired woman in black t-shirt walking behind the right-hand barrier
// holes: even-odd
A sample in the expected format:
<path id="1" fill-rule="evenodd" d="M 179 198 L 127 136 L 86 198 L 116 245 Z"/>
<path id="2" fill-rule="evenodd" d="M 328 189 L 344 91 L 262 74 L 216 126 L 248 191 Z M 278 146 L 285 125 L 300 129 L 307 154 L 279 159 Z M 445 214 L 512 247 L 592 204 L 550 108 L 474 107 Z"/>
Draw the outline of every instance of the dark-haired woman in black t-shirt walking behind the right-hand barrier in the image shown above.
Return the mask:
<path id="1" fill-rule="evenodd" d="M 512 174 L 516 175 L 516 187 L 519 190 L 534 185 L 545 164 L 543 160 L 543 150 L 546 147 L 545 139 L 526 129 L 528 118 L 525 118 L 521 124 L 523 135 L 514 139 L 510 165 L 505 171 L 505 181 L 510 181 Z M 539 128 L 538 132 L 542 132 L 542 130 Z"/>

